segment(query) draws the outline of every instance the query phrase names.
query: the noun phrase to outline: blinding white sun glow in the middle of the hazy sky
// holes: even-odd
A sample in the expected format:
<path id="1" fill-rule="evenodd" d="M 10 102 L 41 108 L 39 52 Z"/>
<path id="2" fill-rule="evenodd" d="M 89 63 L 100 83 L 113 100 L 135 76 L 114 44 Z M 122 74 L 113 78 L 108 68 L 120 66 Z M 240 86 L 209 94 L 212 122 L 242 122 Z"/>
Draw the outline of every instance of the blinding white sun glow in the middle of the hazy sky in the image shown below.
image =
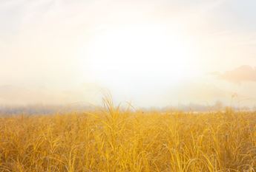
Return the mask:
<path id="1" fill-rule="evenodd" d="M 179 83 L 194 75 L 194 55 L 188 39 L 177 32 L 125 27 L 97 34 L 87 46 L 86 63 L 91 77 L 102 83 Z"/>

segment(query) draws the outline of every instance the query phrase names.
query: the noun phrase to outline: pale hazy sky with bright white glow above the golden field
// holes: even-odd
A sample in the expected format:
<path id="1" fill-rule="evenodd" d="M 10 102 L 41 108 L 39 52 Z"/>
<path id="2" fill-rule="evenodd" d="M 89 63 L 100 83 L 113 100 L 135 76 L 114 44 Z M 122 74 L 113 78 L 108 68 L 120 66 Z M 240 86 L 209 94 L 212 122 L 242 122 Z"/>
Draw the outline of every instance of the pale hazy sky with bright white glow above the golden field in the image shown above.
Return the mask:
<path id="1" fill-rule="evenodd" d="M 1 0 L 0 104 L 256 105 L 254 0 Z"/>

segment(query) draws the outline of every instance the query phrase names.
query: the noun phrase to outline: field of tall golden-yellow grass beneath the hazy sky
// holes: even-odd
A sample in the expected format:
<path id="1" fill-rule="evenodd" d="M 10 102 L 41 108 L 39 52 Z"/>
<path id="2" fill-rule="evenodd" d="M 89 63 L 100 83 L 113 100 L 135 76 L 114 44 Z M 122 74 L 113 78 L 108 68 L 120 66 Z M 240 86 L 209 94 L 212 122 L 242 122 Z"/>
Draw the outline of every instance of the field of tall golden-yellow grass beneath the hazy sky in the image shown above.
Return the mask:
<path id="1" fill-rule="evenodd" d="M 0 171 L 256 171 L 256 114 L 2 116 Z"/>

